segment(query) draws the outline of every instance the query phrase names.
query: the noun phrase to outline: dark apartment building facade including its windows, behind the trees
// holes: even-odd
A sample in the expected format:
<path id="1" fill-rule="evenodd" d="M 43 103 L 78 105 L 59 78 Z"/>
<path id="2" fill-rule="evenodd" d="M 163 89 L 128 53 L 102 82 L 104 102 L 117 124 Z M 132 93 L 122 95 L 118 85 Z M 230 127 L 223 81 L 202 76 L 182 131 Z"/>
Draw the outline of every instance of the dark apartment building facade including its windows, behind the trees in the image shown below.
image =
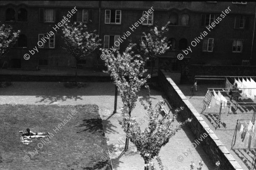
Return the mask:
<path id="1" fill-rule="evenodd" d="M 170 49 L 154 63 L 156 67 L 165 65 L 180 71 L 187 64 L 256 65 L 256 2 L 0 1 L 1 24 L 21 30 L 16 46 L 0 61 L 1 66 L 4 61 L 9 68 L 21 69 L 74 66 L 75 59 L 62 48 L 61 28 L 54 29 L 74 7 L 78 11 L 69 18 L 71 22 L 87 23 L 90 31 L 97 30 L 101 48 L 121 52 L 128 46 L 128 39 L 139 43 L 143 32 L 170 21 L 166 33 Z M 229 13 L 221 17 L 228 7 Z M 147 13 L 149 9 L 151 14 Z M 222 20 L 217 24 L 218 17 Z M 212 23 L 216 26 L 209 30 Z M 54 35 L 38 46 L 38 40 L 51 31 Z M 38 52 L 34 50 L 32 55 L 29 51 L 35 47 Z M 30 55 L 29 60 L 24 59 L 25 54 Z M 183 54 L 183 60 L 177 59 L 179 54 Z M 103 66 L 100 55 L 96 49 L 79 63 L 90 68 Z"/>

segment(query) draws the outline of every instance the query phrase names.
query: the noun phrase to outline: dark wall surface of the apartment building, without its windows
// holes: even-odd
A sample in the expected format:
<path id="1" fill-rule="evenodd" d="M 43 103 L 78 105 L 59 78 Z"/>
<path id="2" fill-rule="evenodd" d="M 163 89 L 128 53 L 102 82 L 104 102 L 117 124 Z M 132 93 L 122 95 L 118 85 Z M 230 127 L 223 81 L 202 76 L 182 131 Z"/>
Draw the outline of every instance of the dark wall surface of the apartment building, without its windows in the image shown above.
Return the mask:
<path id="1" fill-rule="evenodd" d="M 61 48 L 65 46 L 61 40 L 61 32 L 56 33 L 55 49 L 41 49 L 38 54 L 32 55 L 29 61 L 23 59 L 23 55 L 31 50 L 38 42 L 38 33 L 47 33 L 53 30 L 53 26 L 57 24 L 39 23 L 38 13 L 39 8 L 54 7 L 60 9 L 61 16 L 67 15 L 68 11 L 77 8 L 93 9 L 93 23 L 88 23 L 89 30 L 96 30 L 99 36 L 104 40 L 104 35 L 120 35 L 125 36 L 128 31 L 131 33 L 126 40 L 120 45 L 120 51 L 124 51 L 128 46 L 128 39 L 139 43 L 143 32 L 148 32 L 150 27 L 139 24 L 134 31 L 132 27 L 143 15 L 143 11 L 148 11 L 151 7 L 154 9 L 154 26 L 163 26 L 169 21 L 172 13 L 178 15 L 178 25 L 168 26 L 169 31 L 166 33 L 167 40 L 175 38 L 176 50 L 168 50 L 161 56 L 162 61 L 165 62 L 168 58 L 173 58 L 172 62 L 178 63 L 177 55 L 183 54 L 184 57 L 189 58 L 190 64 L 210 64 L 210 65 L 241 65 L 242 60 L 250 60 L 252 41 L 253 41 L 253 28 L 255 20 L 255 2 L 247 2 L 247 4 L 233 4 L 232 2 L 172 2 L 172 1 L 1 1 L 0 2 L 0 18 L 1 23 L 5 22 L 5 12 L 8 8 L 15 9 L 17 12 L 21 7 L 27 9 L 28 22 L 26 23 L 10 23 L 15 30 L 20 29 L 21 34 L 27 36 L 28 46 L 27 49 L 14 48 L 7 55 L 7 58 L 20 58 L 23 68 L 35 68 L 38 66 L 39 59 L 48 59 L 48 66 L 52 67 L 69 67 L 75 65 L 75 59 L 67 54 Z M 100 20 L 99 20 L 99 7 L 100 7 Z M 206 27 L 201 26 L 201 14 L 221 14 L 222 11 L 230 7 L 231 12 L 225 16 L 219 24 L 219 27 L 209 31 Z M 105 10 L 122 10 L 121 24 L 105 24 Z M 189 14 L 189 25 L 181 26 L 182 14 Z M 245 15 L 249 17 L 248 29 L 234 29 L 235 17 L 237 15 Z M 213 52 L 202 52 L 203 42 L 201 39 L 196 46 L 192 46 L 191 42 L 200 36 L 201 33 L 206 31 L 208 35 L 205 37 L 214 38 Z M 179 41 L 181 38 L 187 40 L 187 47 L 190 46 L 192 52 L 185 55 L 181 50 L 178 50 Z M 241 53 L 232 52 L 233 39 L 243 39 L 243 50 Z M 256 41 L 256 40 L 254 40 Z M 254 46 L 255 47 L 255 43 Z M 252 62 L 255 61 L 255 48 L 253 48 Z M 93 67 L 97 64 L 104 65 L 104 61 L 100 59 L 101 52 L 95 50 L 88 58 L 86 66 Z M 2 60 L 3 62 L 3 60 Z M 158 66 L 158 62 L 156 63 Z M 181 68 L 182 66 L 178 66 Z M 172 67 L 171 67 L 172 69 Z M 176 71 L 176 70 L 175 70 Z"/>

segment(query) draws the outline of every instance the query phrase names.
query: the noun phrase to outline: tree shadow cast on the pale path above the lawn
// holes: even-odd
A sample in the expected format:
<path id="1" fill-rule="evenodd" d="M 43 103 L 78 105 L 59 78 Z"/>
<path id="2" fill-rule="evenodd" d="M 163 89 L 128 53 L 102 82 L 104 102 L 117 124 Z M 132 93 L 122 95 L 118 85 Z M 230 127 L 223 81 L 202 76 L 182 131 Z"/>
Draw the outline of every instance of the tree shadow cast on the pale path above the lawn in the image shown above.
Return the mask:
<path id="1" fill-rule="evenodd" d="M 54 102 L 57 102 L 57 101 L 67 101 L 67 99 L 71 99 L 71 100 L 83 100 L 81 97 L 79 96 L 61 96 L 61 95 L 57 95 L 57 96 L 51 96 L 51 95 L 37 95 L 35 96 L 36 98 L 42 98 L 40 101 L 37 101 L 35 103 L 41 103 L 41 102 L 44 102 L 44 103 L 48 103 L 49 104 L 52 104 Z"/>

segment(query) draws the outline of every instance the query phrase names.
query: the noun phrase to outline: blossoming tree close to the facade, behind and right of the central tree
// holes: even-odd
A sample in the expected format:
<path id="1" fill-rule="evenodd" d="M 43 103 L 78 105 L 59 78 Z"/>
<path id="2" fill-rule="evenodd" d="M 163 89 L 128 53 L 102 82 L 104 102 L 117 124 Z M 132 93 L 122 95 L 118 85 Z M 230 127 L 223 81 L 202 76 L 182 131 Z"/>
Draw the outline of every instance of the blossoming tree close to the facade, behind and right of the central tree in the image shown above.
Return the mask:
<path id="1" fill-rule="evenodd" d="M 163 35 L 169 30 L 167 25 L 163 26 L 160 30 L 158 30 L 158 26 L 154 26 L 154 29 L 150 29 L 149 33 L 146 34 L 143 32 L 145 37 L 144 40 L 140 41 L 140 49 L 138 50 L 140 54 L 146 61 L 150 61 L 151 65 L 151 79 L 153 75 L 153 62 L 163 53 L 166 52 L 169 47 L 167 46 L 168 43 L 166 42 L 166 37 Z"/>

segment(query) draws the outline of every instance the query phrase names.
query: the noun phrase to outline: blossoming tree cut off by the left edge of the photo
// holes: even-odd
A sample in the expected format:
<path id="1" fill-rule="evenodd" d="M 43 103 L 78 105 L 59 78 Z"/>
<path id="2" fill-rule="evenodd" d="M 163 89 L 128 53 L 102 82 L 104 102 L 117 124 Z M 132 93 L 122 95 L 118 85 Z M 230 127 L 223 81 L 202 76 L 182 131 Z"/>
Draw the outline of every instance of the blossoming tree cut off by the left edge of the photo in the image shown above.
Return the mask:
<path id="1" fill-rule="evenodd" d="M 15 32 L 12 26 L 5 24 L 0 26 L 0 59 L 15 45 L 19 34 L 20 30 Z"/>

